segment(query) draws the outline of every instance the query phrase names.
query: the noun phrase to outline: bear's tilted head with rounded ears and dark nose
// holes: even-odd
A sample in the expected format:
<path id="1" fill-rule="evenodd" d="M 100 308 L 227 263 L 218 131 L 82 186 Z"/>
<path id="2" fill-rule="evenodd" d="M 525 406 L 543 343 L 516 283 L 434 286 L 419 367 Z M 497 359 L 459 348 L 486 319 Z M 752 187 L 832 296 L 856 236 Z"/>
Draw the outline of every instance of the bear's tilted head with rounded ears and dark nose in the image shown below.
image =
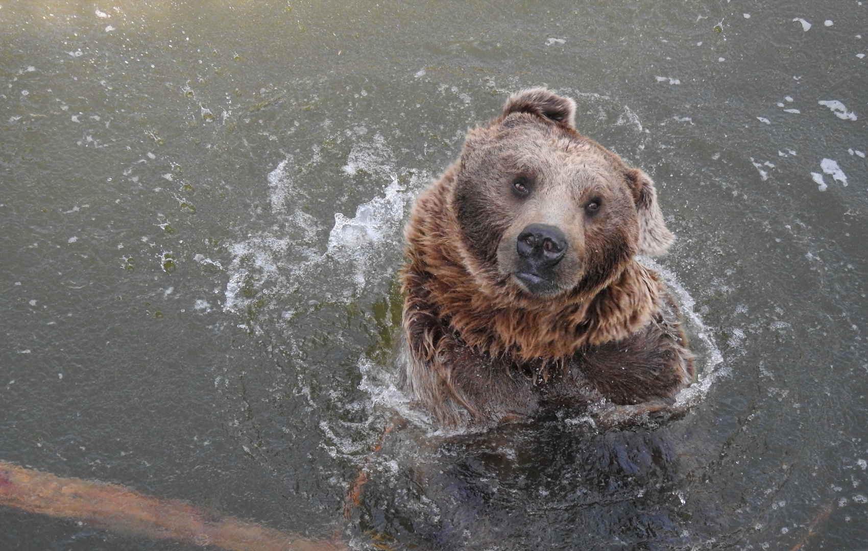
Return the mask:
<path id="1" fill-rule="evenodd" d="M 589 296 L 673 236 L 654 183 L 575 129 L 575 102 L 511 95 L 450 168 L 456 245 L 481 288 L 523 303 Z"/>

